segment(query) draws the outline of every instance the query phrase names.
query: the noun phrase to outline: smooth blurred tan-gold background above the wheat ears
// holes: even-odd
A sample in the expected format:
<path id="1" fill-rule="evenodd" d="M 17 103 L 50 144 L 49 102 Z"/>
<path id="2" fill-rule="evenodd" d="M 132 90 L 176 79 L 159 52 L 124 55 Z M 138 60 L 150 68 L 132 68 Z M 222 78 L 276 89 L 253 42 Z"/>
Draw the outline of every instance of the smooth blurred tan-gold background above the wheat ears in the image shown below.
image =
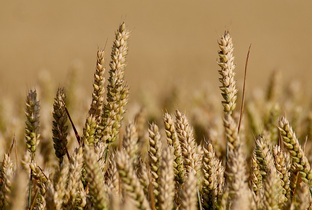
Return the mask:
<path id="1" fill-rule="evenodd" d="M 242 87 L 252 44 L 247 88 L 264 88 L 270 72 L 311 88 L 311 1 L 1 1 L 0 94 L 25 97 L 42 72 L 64 86 L 78 66 L 79 85 L 91 97 L 96 52 L 107 40 L 106 71 L 114 31 L 133 30 L 126 79 L 130 97 L 157 97 L 170 87 L 206 86 L 220 97 L 217 40 L 231 29 L 237 84 Z M 249 94 L 247 90 L 247 95 Z M 308 91 L 310 94 L 310 91 Z M 90 98 L 91 100 L 91 98 Z"/>

